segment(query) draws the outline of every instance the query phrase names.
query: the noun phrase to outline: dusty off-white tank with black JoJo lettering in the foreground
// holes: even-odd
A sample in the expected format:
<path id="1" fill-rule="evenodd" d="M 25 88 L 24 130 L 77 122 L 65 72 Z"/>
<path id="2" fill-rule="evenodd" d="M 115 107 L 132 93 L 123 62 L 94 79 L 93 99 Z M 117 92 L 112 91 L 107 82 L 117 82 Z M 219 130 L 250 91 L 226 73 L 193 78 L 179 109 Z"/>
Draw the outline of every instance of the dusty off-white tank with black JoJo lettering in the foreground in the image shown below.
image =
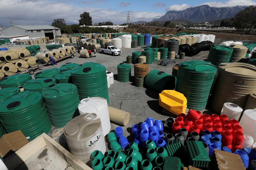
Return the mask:
<path id="1" fill-rule="evenodd" d="M 64 127 L 70 153 L 83 163 L 91 166 L 91 154 L 95 150 L 106 152 L 100 118 L 95 113 L 87 113 L 71 119 Z"/>

